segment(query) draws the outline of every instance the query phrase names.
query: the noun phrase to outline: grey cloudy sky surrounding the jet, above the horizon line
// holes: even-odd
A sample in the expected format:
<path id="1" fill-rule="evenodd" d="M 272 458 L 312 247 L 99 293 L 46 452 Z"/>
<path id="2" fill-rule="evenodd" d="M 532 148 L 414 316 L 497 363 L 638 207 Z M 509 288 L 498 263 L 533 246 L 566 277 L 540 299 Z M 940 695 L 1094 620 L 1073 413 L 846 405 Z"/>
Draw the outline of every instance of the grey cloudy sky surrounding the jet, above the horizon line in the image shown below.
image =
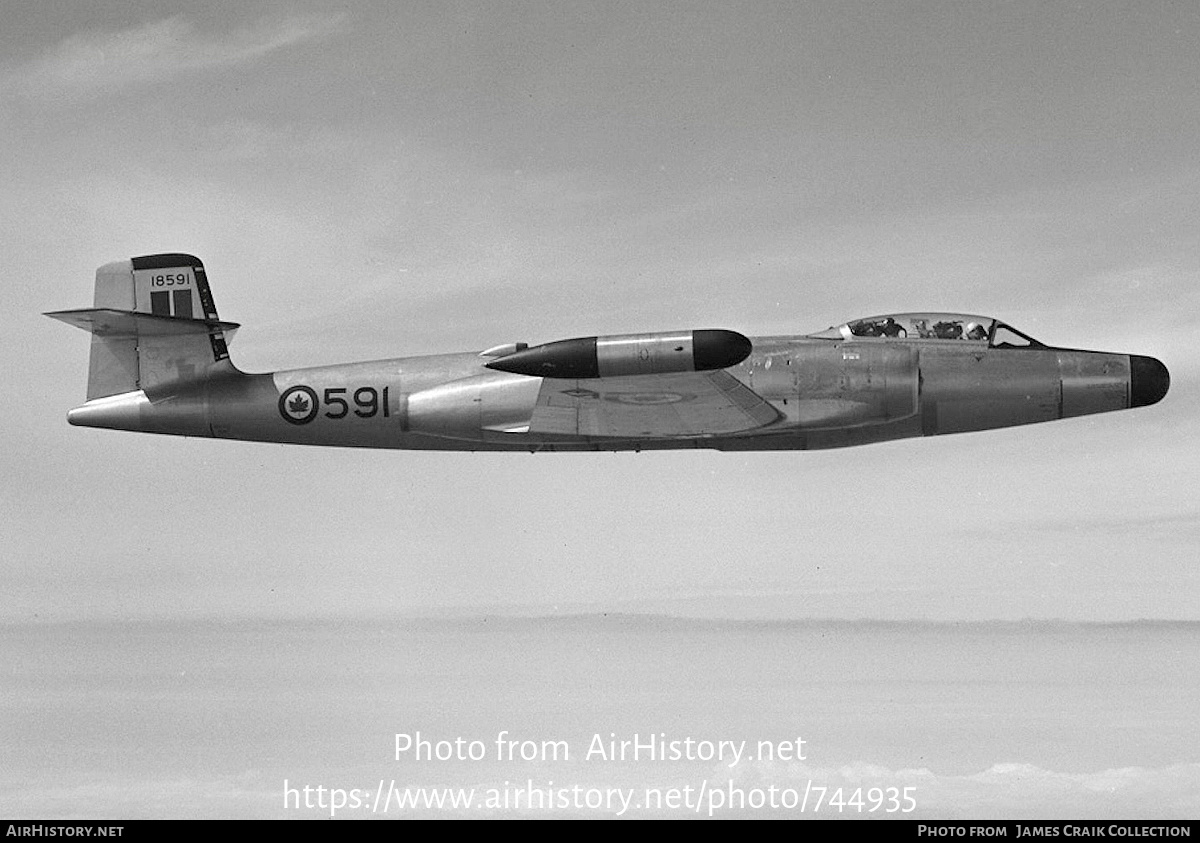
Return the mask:
<path id="1" fill-rule="evenodd" d="M 0 618 L 1200 617 L 1192 2 L 13 4 Z M 198 255 L 248 371 L 997 316 L 1158 406 L 824 453 L 68 428 L 104 262 Z"/>

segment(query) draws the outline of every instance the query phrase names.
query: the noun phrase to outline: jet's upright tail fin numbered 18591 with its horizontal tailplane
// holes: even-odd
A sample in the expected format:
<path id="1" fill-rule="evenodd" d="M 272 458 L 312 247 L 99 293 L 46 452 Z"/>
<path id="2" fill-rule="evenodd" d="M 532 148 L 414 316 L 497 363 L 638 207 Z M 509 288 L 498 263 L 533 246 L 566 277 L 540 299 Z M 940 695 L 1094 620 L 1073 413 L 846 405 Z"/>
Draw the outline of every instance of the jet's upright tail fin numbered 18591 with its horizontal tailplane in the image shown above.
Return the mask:
<path id="1" fill-rule="evenodd" d="M 230 369 L 228 339 L 204 264 L 191 255 L 148 255 L 96 270 L 95 306 L 47 313 L 91 333 L 88 400 L 138 389 L 151 401 Z"/>

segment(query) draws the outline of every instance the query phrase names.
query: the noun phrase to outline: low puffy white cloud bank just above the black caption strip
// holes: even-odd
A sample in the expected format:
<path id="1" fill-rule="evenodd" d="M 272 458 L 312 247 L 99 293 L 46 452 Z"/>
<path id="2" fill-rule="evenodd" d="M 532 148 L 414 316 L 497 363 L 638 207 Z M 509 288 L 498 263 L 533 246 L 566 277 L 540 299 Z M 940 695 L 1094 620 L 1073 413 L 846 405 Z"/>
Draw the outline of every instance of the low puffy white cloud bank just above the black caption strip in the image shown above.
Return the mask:
<path id="1" fill-rule="evenodd" d="M 607 794 L 620 790 L 629 797 L 629 817 L 679 817 L 691 814 L 688 808 L 667 808 L 655 802 L 650 791 L 665 793 L 673 788 L 691 788 L 691 800 L 700 799 L 701 779 L 706 796 L 701 817 L 752 818 L 792 817 L 796 819 L 1187 819 L 1200 811 L 1200 764 L 1172 764 L 1162 767 L 1116 767 L 1092 772 L 1062 772 L 1032 764 L 994 764 L 979 772 L 960 775 L 936 773 L 928 767 L 893 769 L 883 764 L 854 763 L 841 766 L 815 766 L 803 763 L 772 764 L 743 763 L 734 769 L 725 764 L 710 769 L 697 767 L 682 773 L 682 778 L 661 777 L 648 769 L 631 765 L 624 775 L 596 778 L 582 766 L 570 770 L 540 771 L 530 776 L 504 779 L 446 781 L 437 785 L 392 781 L 401 790 L 445 794 L 451 789 L 473 791 L 473 808 L 410 808 L 395 805 L 380 811 L 378 817 L 464 817 L 464 815 L 612 815 L 612 807 L 587 808 L 546 794 L 583 791 Z M 575 778 L 572 773 L 577 773 Z M 229 776 L 191 778 L 149 778 L 128 781 L 91 781 L 64 785 L 25 784 L 0 789 L 0 805 L 18 817 L 47 819 L 71 817 L 122 818 L 281 818 L 328 817 L 329 808 L 306 808 L 284 801 L 286 773 L 260 770 Z M 374 782 L 344 779 L 341 773 L 326 787 L 366 788 Z M 316 787 L 317 779 L 289 778 L 289 787 Z M 527 788 L 542 791 L 542 803 L 530 802 Z M 776 806 L 770 811 L 761 802 L 774 790 Z M 894 791 L 888 789 L 895 789 Z M 521 796 L 516 791 L 522 791 Z M 680 790 L 682 791 L 682 790 Z M 785 795 L 786 791 L 786 795 Z M 326 790 L 328 793 L 328 790 Z M 492 795 L 508 796 L 509 807 L 484 808 Z M 799 800 L 808 793 L 805 811 Z M 858 794 L 856 796 L 856 794 Z M 524 802 L 521 799 L 524 797 Z M 896 802 L 893 800 L 901 800 Z M 328 796 L 325 797 L 328 799 Z M 650 801 L 647 801 L 650 800 Z M 820 805 L 818 805 L 820 800 Z M 890 801 L 889 801 L 890 800 Z M 793 806 L 792 802 L 796 801 Z M 839 802 L 842 807 L 839 808 Z M 359 809 L 347 809 L 341 817 L 372 815 L 367 801 Z M 613 802 L 613 806 L 618 802 Z M 876 811 L 870 811 L 872 805 Z M 862 807 L 859 807 L 862 806 Z M 888 811 L 888 807 L 892 811 Z M 900 806 L 900 807 L 898 807 Z M 908 807 L 907 813 L 901 812 Z"/>

